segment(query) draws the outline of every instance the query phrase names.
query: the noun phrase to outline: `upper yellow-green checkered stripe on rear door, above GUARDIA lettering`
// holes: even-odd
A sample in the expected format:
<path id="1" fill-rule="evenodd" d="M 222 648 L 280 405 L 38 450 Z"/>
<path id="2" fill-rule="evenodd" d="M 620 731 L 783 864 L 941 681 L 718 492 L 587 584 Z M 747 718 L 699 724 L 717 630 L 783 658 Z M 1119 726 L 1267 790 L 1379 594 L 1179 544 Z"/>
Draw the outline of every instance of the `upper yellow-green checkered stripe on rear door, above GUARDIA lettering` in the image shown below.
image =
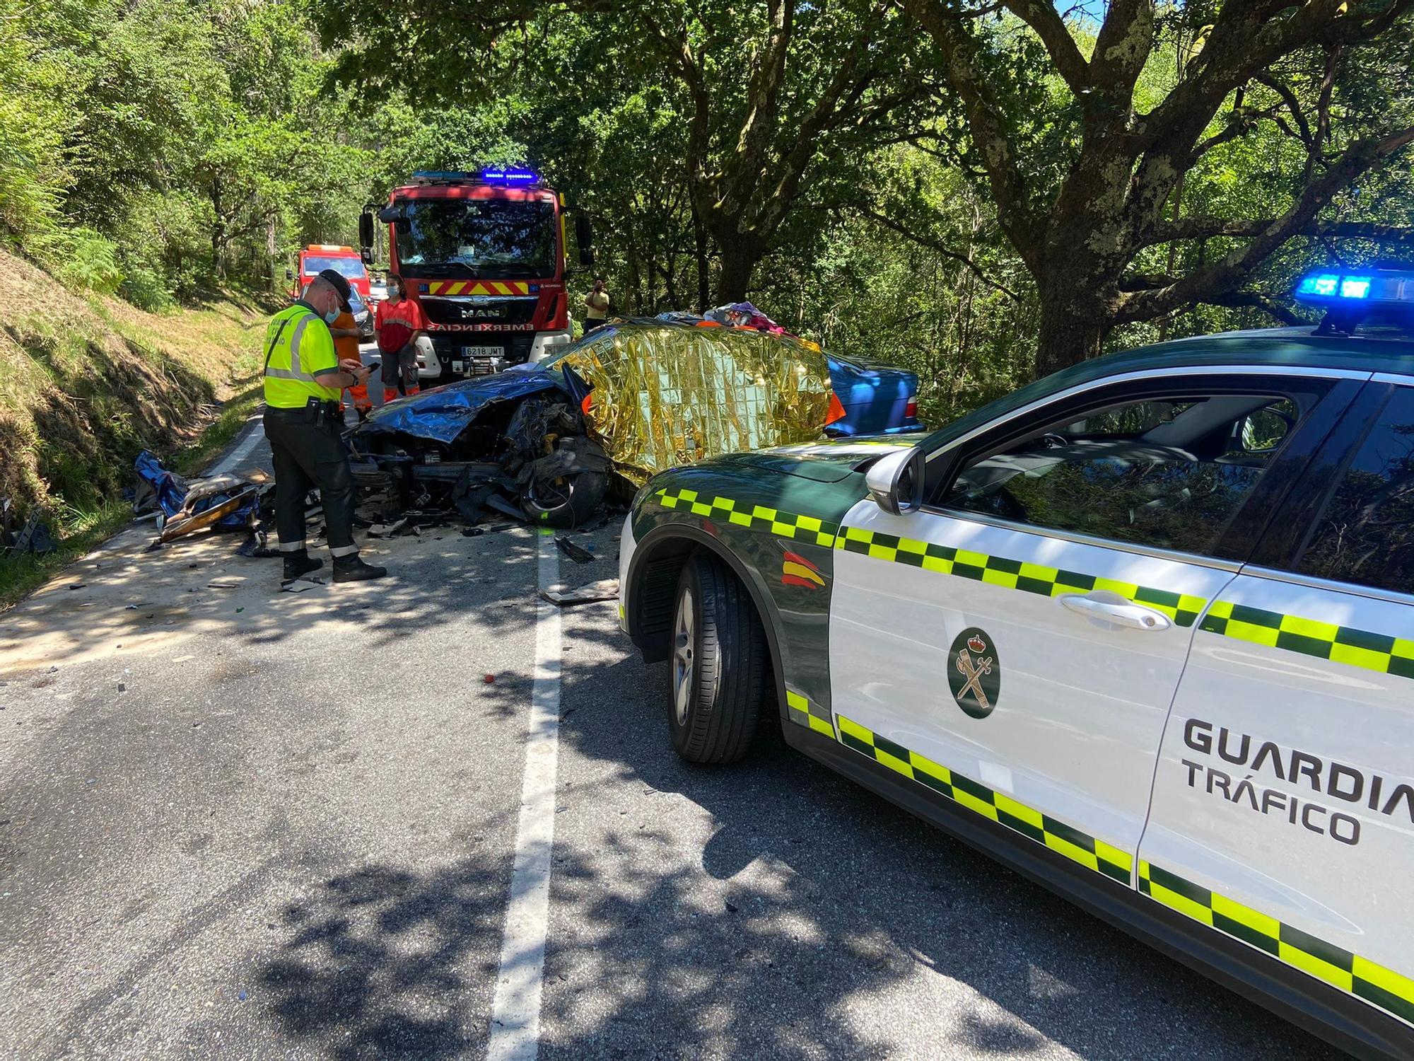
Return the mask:
<path id="1" fill-rule="evenodd" d="M 1333 622 L 1284 615 L 1227 600 L 1216 601 L 1198 628 L 1254 645 L 1284 648 L 1335 663 L 1414 678 L 1414 641 L 1390 634 L 1338 627 Z"/>

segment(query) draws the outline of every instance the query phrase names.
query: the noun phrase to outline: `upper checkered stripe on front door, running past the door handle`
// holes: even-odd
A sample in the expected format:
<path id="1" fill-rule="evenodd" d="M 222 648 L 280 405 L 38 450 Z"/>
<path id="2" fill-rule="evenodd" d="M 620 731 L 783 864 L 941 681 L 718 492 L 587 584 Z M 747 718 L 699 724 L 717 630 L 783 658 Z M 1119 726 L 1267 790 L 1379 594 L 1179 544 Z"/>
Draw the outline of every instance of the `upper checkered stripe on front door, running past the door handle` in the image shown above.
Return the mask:
<path id="1" fill-rule="evenodd" d="M 911 538 L 863 530 L 857 526 L 843 526 L 834 539 L 836 549 L 871 556 L 875 560 L 906 563 L 939 574 L 956 574 L 960 579 L 1003 586 L 1008 590 L 1038 593 L 1042 597 L 1056 597 L 1062 593 L 1090 593 L 1110 590 L 1137 604 L 1147 604 L 1168 615 L 1181 627 L 1191 627 L 1208 604 L 1206 597 L 1188 593 L 1171 593 L 1152 586 L 1138 586 L 1097 574 L 1068 572 L 1060 567 L 1046 567 L 1039 563 L 1008 560 L 1004 556 L 988 556 L 949 545 L 916 542 Z"/>

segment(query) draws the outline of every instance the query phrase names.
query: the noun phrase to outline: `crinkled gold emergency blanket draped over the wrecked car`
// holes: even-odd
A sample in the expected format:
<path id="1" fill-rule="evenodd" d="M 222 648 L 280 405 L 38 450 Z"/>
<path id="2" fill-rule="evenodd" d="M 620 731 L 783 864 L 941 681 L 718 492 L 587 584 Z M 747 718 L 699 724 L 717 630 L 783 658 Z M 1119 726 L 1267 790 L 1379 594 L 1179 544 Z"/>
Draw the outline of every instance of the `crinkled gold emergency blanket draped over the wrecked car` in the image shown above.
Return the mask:
<path id="1" fill-rule="evenodd" d="M 829 414 L 820 348 L 754 330 L 614 324 L 560 364 L 594 385 L 590 427 L 638 485 L 704 457 L 819 439 Z"/>

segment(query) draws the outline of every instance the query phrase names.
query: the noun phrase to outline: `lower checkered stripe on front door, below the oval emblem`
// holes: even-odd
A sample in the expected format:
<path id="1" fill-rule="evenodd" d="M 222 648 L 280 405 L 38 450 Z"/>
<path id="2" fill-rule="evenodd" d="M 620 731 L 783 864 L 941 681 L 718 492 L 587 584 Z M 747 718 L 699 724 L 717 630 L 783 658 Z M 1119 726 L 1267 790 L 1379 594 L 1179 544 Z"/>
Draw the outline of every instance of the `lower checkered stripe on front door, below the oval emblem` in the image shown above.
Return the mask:
<path id="1" fill-rule="evenodd" d="M 926 785 L 973 813 L 990 818 L 1012 832 L 1045 845 L 1070 862 L 1103 873 L 1121 884 L 1130 884 L 1134 859 L 1128 852 L 1073 829 L 1065 822 L 1058 822 L 1051 815 L 1044 815 L 1004 792 L 980 785 L 916 751 L 909 751 L 902 744 L 895 744 L 888 737 L 874 733 L 843 714 L 839 716 L 839 720 L 840 743 L 846 747 L 868 755 L 895 774 Z"/>

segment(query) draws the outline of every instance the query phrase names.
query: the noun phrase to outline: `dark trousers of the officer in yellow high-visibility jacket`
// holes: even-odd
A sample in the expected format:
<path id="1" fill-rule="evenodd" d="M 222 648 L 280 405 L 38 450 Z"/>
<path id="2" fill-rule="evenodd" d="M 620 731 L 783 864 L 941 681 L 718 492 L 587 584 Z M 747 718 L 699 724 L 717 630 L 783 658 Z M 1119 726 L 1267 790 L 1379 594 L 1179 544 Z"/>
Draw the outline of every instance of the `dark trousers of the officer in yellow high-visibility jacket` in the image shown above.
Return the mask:
<path id="1" fill-rule="evenodd" d="M 358 552 L 354 545 L 354 471 L 339 437 L 338 416 L 315 423 L 312 409 L 266 409 L 264 429 L 274 460 L 274 525 L 280 552 L 304 549 L 304 497 L 320 488 L 325 536 L 332 556 Z"/>

